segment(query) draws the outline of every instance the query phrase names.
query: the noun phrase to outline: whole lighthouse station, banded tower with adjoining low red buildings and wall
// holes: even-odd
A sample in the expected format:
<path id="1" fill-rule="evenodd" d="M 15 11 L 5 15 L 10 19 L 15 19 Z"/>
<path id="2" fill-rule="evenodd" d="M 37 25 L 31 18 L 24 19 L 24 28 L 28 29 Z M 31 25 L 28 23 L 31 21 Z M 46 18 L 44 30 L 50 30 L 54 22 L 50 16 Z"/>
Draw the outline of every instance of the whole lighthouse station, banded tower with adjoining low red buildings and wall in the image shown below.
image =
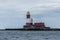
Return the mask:
<path id="1" fill-rule="evenodd" d="M 49 27 L 45 27 L 44 22 L 36 22 L 33 24 L 33 19 L 31 18 L 30 12 L 27 11 L 24 29 L 49 29 Z"/>

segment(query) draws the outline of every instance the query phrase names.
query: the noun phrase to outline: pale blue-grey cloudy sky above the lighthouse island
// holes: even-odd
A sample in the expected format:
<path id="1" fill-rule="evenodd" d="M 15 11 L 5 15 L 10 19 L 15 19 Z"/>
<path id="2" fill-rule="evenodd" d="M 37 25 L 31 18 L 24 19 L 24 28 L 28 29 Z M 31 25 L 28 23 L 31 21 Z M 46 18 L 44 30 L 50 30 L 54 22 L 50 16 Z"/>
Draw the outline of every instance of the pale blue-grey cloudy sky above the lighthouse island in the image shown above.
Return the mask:
<path id="1" fill-rule="evenodd" d="M 60 0 L 0 0 L 0 29 L 23 28 L 27 11 L 34 22 L 60 28 Z"/>

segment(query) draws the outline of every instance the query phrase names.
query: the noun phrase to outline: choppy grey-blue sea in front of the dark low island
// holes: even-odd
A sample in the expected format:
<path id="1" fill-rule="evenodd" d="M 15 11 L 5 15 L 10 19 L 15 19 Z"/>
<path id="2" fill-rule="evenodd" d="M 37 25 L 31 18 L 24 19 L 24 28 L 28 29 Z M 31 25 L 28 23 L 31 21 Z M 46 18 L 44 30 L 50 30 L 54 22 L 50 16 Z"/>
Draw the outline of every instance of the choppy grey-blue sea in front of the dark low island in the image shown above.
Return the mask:
<path id="1" fill-rule="evenodd" d="M 60 40 L 60 31 L 0 31 L 0 40 Z"/>

